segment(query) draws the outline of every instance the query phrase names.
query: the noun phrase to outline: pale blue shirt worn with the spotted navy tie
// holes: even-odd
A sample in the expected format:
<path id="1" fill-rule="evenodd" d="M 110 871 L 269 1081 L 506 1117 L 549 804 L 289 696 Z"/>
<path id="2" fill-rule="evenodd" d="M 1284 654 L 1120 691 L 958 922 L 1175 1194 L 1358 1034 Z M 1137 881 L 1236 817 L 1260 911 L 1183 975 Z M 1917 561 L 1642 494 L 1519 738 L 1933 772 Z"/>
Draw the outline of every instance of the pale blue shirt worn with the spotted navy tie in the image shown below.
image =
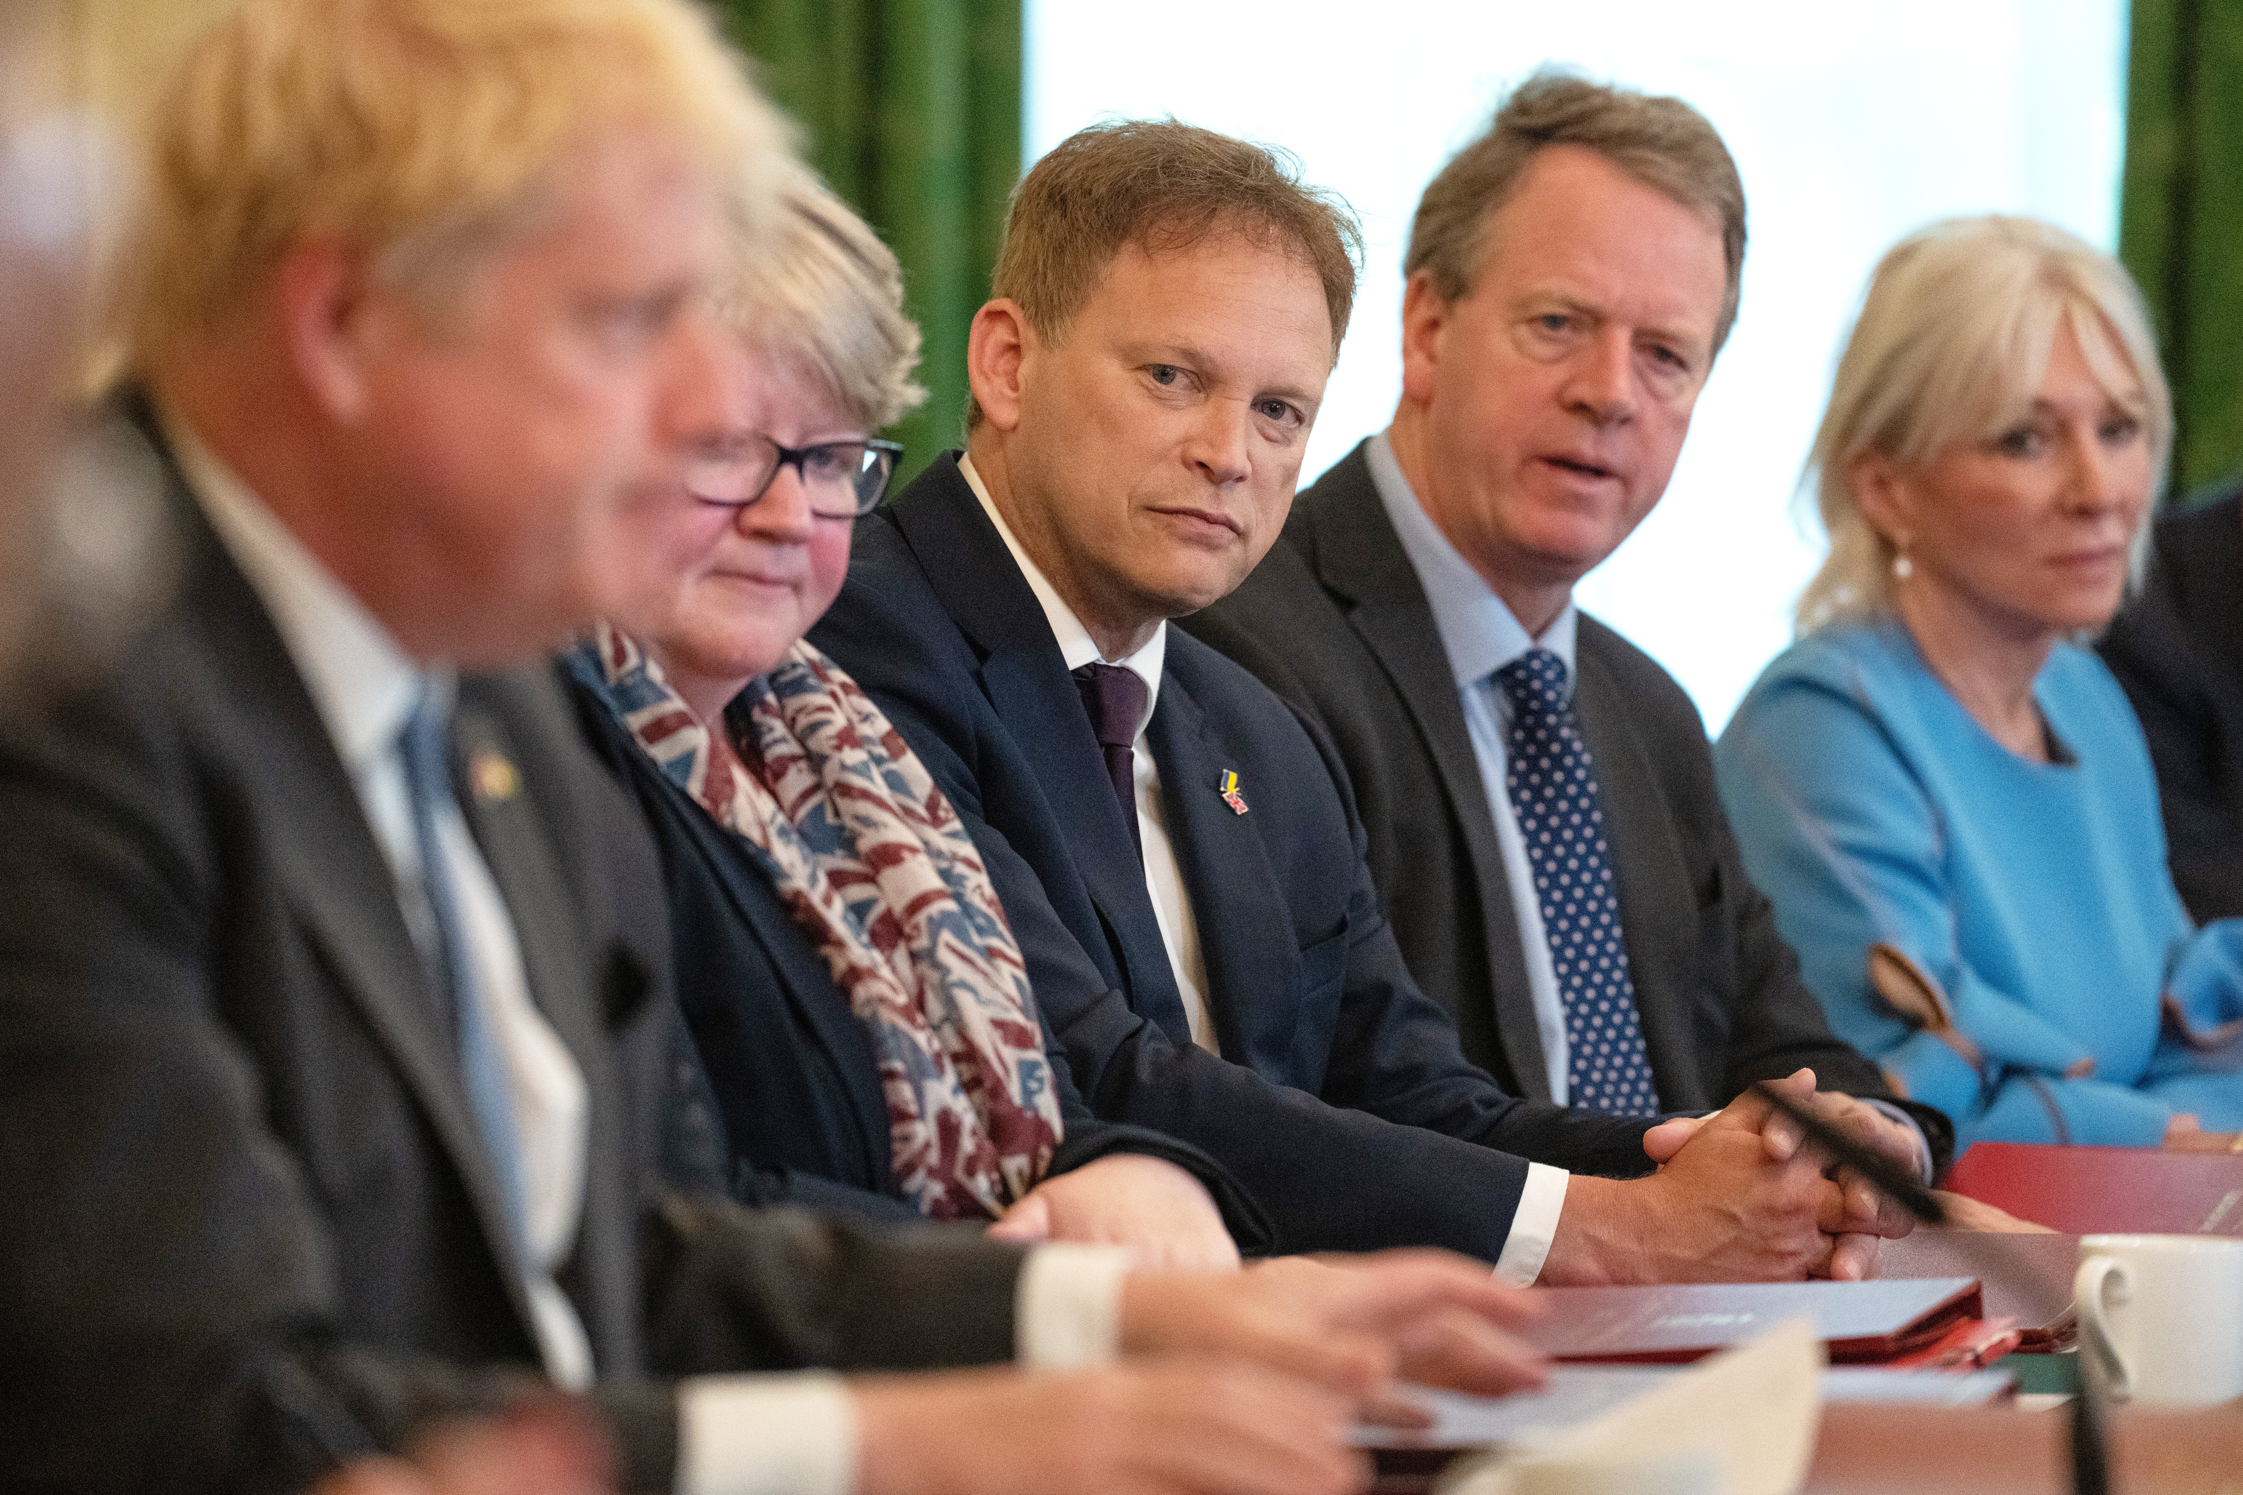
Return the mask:
<path id="1" fill-rule="evenodd" d="M 1465 731 L 1471 733 L 1471 755 L 1480 764 L 1487 814 L 1496 823 L 1496 849 L 1503 856 L 1503 879 L 1510 883 L 1512 914 L 1519 919 L 1519 950 L 1527 964 L 1527 993 L 1534 997 L 1534 1031 L 1541 1036 L 1543 1074 L 1550 1080 L 1550 1098 L 1566 1105 L 1570 1094 L 1566 1076 L 1572 1058 L 1566 1042 L 1566 1002 L 1550 962 L 1550 935 L 1543 928 L 1541 897 L 1534 892 L 1534 863 L 1527 858 L 1519 811 L 1512 807 L 1512 699 L 1496 681 L 1496 670 L 1530 648 L 1545 648 L 1566 663 L 1566 699 L 1570 702 L 1579 679 L 1575 670 L 1579 612 L 1568 596 L 1566 607 L 1539 639 L 1527 634 L 1496 596 L 1496 589 L 1487 585 L 1487 578 L 1458 554 L 1449 536 L 1440 533 L 1440 527 L 1427 516 L 1409 477 L 1402 475 L 1402 464 L 1395 462 L 1386 433 L 1364 444 L 1364 462 L 1370 466 L 1370 486 L 1377 489 L 1379 504 L 1386 507 L 1395 538 L 1402 540 L 1402 554 L 1418 572 L 1418 585 L 1433 610 L 1433 628 L 1440 632 L 1440 646 L 1456 679 L 1458 702 L 1465 708 Z M 1929 1183 L 1931 1143 L 1916 1118 L 1884 1101 L 1866 1101 L 1866 1105 L 1916 1134 L 1918 1170 Z"/>

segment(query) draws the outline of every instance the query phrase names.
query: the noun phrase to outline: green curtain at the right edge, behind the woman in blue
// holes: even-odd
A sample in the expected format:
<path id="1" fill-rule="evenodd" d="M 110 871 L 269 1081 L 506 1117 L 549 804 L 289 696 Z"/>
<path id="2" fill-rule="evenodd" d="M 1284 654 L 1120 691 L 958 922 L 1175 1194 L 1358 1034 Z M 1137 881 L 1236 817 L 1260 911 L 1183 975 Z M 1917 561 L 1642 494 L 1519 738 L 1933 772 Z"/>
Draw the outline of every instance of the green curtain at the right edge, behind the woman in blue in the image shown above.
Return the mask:
<path id="1" fill-rule="evenodd" d="M 2133 0 L 2120 258 L 2173 381 L 2169 502 L 2243 471 L 2243 0 Z"/>

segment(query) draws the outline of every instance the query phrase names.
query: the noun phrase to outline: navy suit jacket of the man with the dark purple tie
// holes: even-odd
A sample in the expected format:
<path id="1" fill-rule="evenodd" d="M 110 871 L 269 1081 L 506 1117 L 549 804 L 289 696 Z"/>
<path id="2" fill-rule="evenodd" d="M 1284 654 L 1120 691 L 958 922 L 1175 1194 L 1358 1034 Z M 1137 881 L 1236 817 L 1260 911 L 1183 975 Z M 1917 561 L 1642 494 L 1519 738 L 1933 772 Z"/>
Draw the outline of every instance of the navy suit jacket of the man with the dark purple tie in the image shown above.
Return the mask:
<path id="1" fill-rule="evenodd" d="M 1059 643 L 940 457 L 857 527 L 812 641 L 958 805 L 1090 1105 L 1207 1148 L 1283 1251 L 1438 1244 L 1496 1257 L 1525 1159 L 1628 1174 L 1642 1121 L 1503 1094 L 1402 968 L 1328 749 L 1171 634 L 1146 728 L 1229 1060 L 1191 1044 L 1144 870 Z M 1238 776 L 1249 814 L 1218 778 Z M 1523 1154 L 1523 1157 L 1521 1157 Z"/>

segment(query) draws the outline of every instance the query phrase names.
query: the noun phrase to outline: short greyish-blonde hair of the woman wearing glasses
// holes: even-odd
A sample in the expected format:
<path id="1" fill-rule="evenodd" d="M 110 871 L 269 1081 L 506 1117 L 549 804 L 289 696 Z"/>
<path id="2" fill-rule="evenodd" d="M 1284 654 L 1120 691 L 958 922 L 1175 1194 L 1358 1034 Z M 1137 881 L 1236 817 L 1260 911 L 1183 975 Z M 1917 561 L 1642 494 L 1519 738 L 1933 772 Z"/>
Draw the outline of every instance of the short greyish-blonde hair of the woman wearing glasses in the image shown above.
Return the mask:
<path id="1" fill-rule="evenodd" d="M 792 361 L 866 433 L 926 399 L 913 383 L 920 327 L 904 271 L 879 235 L 805 168 L 776 182 L 769 233 L 740 235 L 718 314 L 765 356 Z"/>

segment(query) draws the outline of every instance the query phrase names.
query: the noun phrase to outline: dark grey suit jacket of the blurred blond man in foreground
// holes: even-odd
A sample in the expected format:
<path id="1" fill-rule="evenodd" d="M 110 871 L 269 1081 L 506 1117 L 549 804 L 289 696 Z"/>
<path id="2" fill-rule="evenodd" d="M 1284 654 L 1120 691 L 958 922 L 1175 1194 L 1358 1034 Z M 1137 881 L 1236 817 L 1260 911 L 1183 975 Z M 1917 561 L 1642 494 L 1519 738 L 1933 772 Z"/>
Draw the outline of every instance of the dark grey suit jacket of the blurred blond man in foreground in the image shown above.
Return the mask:
<path id="1" fill-rule="evenodd" d="M 9 1491 L 296 1488 L 536 1374 L 388 863 L 280 634 L 166 482 L 175 598 L 101 679 L 0 724 Z M 453 733 L 518 767 L 462 811 L 588 1085 L 561 1284 L 626 1488 L 671 1486 L 653 1374 L 1009 1358 L 1014 1251 L 657 1190 L 653 849 L 545 670 L 462 681 Z"/>

